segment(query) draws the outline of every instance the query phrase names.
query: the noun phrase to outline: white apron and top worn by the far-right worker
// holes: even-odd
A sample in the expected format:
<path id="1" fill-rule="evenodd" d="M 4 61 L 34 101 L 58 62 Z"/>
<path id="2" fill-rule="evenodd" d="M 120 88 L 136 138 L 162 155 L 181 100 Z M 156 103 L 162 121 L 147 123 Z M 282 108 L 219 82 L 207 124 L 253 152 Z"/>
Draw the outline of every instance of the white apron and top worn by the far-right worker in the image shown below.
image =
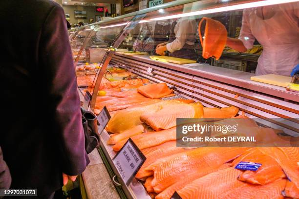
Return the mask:
<path id="1" fill-rule="evenodd" d="M 299 63 L 299 3 L 272 6 L 274 15 L 262 19 L 260 8 L 243 12 L 241 39 L 247 49 L 255 39 L 263 46 L 258 59 L 256 75 L 278 74 L 290 76 Z"/>

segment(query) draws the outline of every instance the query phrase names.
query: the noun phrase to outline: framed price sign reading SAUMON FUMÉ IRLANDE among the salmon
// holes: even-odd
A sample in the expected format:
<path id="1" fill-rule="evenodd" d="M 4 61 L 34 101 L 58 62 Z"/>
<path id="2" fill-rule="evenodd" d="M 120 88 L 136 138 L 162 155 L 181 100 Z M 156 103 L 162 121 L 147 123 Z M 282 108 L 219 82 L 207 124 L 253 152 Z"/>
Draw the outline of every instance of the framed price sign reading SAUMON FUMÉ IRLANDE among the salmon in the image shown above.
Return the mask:
<path id="1" fill-rule="evenodd" d="M 130 184 L 140 169 L 146 157 L 142 154 L 139 148 L 135 145 L 132 139 L 128 139 L 126 144 L 113 158 L 114 165 L 123 181 Z"/>

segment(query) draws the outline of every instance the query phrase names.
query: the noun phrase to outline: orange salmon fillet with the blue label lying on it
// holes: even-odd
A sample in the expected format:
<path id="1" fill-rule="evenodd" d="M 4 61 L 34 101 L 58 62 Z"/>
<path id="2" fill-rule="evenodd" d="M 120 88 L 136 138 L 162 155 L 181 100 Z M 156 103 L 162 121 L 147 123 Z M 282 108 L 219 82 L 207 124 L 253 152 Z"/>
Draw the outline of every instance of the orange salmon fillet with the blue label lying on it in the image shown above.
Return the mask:
<path id="1" fill-rule="evenodd" d="M 286 178 L 278 162 L 270 156 L 264 155 L 258 148 L 252 148 L 235 159 L 232 165 L 235 167 L 240 161 L 248 161 L 262 164 L 257 171 L 247 170 L 238 180 L 251 184 L 268 184 L 277 179 Z"/>

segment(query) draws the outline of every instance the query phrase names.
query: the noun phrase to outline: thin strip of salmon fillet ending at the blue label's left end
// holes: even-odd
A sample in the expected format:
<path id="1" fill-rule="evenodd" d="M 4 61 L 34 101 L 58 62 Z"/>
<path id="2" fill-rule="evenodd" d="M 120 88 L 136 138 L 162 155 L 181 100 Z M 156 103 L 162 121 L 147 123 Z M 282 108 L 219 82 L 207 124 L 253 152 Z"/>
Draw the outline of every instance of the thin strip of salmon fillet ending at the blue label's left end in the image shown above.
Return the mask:
<path id="1" fill-rule="evenodd" d="M 184 188 L 187 184 L 189 184 L 193 180 L 201 178 L 207 174 L 210 174 L 210 173 L 222 170 L 222 169 L 227 169 L 227 168 L 230 168 L 229 163 L 222 164 L 220 167 L 218 167 L 216 169 L 207 170 L 204 173 L 192 173 L 192 175 L 185 176 L 180 181 L 167 187 L 164 191 L 162 191 L 160 194 L 158 194 L 155 199 L 170 199 L 175 191 L 177 192 L 177 191 L 181 190 L 182 188 Z"/>

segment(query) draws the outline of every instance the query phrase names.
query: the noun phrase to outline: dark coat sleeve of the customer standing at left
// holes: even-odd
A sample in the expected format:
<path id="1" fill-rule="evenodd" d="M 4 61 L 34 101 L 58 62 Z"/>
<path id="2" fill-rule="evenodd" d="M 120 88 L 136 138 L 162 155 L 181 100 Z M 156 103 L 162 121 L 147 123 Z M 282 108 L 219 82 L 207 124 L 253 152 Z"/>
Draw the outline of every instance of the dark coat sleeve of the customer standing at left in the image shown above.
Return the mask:
<path id="1" fill-rule="evenodd" d="M 78 175 L 85 170 L 89 159 L 85 152 L 75 68 L 61 6 L 50 11 L 40 37 L 38 71 L 43 83 L 43 97 L 48 103 L 43 107 L 44 113 L 53 118 L 53 147 L 59 149 L 62 171 L 67 175 Z"/>

